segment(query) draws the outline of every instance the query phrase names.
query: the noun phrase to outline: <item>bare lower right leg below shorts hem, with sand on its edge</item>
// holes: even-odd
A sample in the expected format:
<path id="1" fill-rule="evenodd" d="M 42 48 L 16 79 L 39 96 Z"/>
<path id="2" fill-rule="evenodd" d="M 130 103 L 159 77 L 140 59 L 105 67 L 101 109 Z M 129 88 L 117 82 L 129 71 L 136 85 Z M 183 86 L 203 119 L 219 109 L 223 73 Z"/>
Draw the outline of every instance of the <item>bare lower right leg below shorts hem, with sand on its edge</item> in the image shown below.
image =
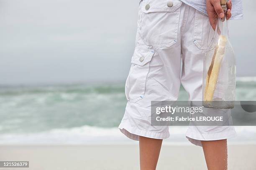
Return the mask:
<path id="1" fill-rule="evenodd" d="M 201 141 L 208 170 L 228 169 L 227 140 Z"/>

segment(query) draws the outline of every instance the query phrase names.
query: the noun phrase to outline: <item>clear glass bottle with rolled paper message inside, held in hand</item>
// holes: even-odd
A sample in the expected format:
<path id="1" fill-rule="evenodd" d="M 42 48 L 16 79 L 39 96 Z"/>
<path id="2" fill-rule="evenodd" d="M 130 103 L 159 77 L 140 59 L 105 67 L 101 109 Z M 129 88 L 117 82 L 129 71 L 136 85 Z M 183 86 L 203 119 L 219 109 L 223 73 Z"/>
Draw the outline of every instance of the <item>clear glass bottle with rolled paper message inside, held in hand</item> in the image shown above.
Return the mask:
<path id="1" fill-rule="evenodd" d="M 236 59 L 228 39 L 227 0 L 221 0 L 225 17 L 218 18 L 215 35 L 204 58 L 203 105 L 233 108 L 236 90 Z"/>

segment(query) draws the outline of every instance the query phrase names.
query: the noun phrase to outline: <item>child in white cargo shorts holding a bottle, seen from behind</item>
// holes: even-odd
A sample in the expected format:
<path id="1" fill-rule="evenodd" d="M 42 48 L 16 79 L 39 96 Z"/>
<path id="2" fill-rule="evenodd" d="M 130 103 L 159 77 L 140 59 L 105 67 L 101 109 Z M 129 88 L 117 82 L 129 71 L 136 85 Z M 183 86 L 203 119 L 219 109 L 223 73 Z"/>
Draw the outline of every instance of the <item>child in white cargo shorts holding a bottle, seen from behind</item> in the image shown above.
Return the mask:
<path id="1" fill-rule="evenodd" d="M 241 19 L 241 0 L 227 2 L 227 19 Z M 139 140 L 141 170 L 155 170 L 168 126 L 151 126 L 151 101 L 177 100 L 180 83 L 189 100 L 202 100 L 203 57 L 223 18 L 220 0 L 141 0 L 136 48 L 125 83 L 128 103 L 119 129 Z M 181 66 L 182 60 L 182 68 Z M 182 75 L 180 72 L 182 69 Z M 233 126 L 189 126 L 187 138 L 203 147 L 209 170 L 227 169 Z"/>

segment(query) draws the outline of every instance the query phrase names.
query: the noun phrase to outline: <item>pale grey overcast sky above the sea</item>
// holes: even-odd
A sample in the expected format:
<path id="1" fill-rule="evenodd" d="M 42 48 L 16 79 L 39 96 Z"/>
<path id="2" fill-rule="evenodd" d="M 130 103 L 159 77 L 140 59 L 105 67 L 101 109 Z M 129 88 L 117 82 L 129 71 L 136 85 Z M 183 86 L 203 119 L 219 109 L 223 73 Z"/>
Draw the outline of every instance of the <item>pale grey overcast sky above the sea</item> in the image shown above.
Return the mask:
<path id="1" fill-rule="evenodd" d="M 238 76 L 256 76 L 256 1 L 230 22 Z M 0 85 L 124 81 L 138 0 L 0 0 Z"/>

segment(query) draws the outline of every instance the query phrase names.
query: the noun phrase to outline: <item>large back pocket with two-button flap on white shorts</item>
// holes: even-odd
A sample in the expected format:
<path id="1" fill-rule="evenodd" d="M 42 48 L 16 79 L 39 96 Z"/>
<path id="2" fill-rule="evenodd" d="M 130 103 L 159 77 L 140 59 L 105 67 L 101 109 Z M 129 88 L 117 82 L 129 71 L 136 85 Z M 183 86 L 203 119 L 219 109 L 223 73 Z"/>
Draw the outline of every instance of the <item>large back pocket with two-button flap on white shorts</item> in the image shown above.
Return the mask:
<path id="1" fill-rule="evenodd" d="M 179 0 L 143 0 L 138 17 L 138 32 L 146 45 L 170 47 L 177 42 Z"/>

